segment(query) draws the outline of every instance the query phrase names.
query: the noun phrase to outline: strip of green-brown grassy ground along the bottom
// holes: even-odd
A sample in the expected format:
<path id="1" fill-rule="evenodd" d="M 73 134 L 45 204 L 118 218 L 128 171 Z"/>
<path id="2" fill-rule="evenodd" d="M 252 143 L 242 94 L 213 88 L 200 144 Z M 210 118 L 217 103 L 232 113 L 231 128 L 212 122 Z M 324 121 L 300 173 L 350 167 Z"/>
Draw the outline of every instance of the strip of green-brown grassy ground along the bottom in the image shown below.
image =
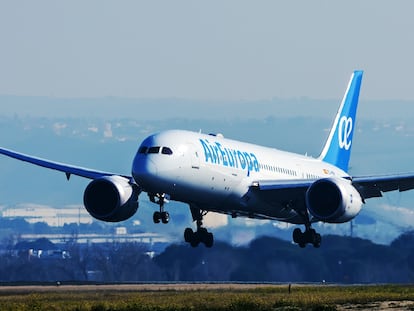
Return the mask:
<path id="1" fill-rule="evenodd" d="M 1 286 L 0 310 L 414 310 L 414 286 Z"/>

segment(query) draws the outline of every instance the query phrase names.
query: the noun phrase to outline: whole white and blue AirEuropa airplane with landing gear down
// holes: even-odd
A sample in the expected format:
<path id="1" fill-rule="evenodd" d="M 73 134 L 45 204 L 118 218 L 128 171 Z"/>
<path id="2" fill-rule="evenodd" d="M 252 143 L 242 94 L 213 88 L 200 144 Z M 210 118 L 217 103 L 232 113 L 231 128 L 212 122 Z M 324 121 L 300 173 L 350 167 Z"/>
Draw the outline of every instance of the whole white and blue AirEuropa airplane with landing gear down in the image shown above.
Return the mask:
<path id="1" fill-rule="evenodd" d="M 414 188 L 414 174 L 351 176 L 348 173 L 352 138 L 363 71 L 351 75 L 332 128 L 318 158 L 225 138 L 166 130 L 141 143 L 130 175 L 45 160 L 9 149 L 0 153 L 66 174 L 91 179 L 83 201 L 94 218 L 120 222 L 138 210 L 147 193 L 158 205 L 154 223 L 168 223 L 169 200 L 189 205 L 196 230 L 186 228 L 192 247 L 212 247 L 214 237 L 203 226 L 208 212 L 304 225 L 293 230 L 300 247 L 320 247 L 316 222 L 345 223 L 355 218 L 366 199 L 387 191 Z"/>

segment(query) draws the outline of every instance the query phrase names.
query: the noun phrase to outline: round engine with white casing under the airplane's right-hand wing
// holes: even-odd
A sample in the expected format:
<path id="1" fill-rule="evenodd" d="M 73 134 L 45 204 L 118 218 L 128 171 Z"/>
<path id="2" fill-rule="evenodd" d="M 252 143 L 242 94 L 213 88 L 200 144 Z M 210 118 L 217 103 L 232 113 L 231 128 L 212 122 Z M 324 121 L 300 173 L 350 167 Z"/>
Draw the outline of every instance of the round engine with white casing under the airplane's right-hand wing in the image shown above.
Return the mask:
<path id="1" fill-rule="evenodd" d="M 320 179 L 306 192 L 306 205 L 310 214 L 328 223 L 343 223 L 353 219 L 361 211 L 362 204 L 359 192 L 345 179 Z"/>

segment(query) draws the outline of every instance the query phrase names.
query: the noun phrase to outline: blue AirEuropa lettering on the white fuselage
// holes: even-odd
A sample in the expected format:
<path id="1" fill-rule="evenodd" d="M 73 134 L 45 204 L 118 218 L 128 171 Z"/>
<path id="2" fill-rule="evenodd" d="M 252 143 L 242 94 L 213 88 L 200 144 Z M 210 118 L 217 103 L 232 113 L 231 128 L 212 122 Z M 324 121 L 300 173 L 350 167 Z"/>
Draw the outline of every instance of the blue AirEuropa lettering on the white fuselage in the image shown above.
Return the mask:
<path id="1" fill-rule="evenodd" d="M 200 138 L 200 143 L 207 163 L 247 169 L 249 172 L 260 170 L 259 161 L 254 153 L 230 149 L 219 142 L 210 143 L 207 139 Z"/>

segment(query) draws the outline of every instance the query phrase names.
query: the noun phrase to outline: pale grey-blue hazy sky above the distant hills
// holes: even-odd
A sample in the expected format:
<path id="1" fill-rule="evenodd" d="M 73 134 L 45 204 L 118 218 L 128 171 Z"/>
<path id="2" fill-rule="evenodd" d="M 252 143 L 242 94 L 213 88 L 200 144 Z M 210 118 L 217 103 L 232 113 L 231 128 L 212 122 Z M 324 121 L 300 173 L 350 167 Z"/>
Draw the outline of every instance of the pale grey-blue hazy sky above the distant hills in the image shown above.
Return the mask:
<path id="1" fill-rule="evenodd" d="M 0 94 L 414 100 L 414 2 L 0 0 Z"/>

